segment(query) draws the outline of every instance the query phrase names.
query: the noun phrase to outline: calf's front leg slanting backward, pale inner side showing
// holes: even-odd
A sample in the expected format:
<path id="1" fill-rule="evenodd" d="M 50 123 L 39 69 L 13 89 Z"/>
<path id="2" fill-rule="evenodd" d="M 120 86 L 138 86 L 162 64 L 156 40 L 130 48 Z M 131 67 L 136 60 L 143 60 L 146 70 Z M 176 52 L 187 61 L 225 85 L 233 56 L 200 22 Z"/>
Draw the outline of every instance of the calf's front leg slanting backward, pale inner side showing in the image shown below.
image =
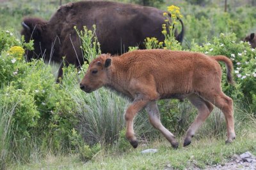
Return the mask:
<path id="1" fill-rule="evenodd" d="M 168 139 L 168 141 L 170 141 L 173 148 L 178 148 L 179 143 L 177 143 L 177 141 L 175 140 L 175 136 L 170 131 L 168 131 L 160 121 L 160 115 L 156 101 L 148 103 L 145 109 L 149 115 L 150 123 L 156 129 L 158 129 L 164 135 L 164 137 Z"/>

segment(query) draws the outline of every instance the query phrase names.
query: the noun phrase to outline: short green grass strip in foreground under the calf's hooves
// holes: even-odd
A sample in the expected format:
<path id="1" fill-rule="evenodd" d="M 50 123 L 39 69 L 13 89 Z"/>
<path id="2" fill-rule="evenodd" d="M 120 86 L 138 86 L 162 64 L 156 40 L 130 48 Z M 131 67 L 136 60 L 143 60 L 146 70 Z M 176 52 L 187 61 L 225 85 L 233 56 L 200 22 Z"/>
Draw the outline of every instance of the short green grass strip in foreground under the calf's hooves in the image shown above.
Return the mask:
<path id="1" fill-rule="evenodd" d="M 79 161 L 78 155 L 48 155 L 44 160 L 15 165 L 10 169 L 164 169 L 166 166 L 175 169 L 204 168 L 224 164 L 235 154 L 250 151 L 256 155 L 256 133 L 253 128 L 237 134 L 236 140 L 230 145 L 225 145 L 223 138 L 205 138 L 198 141 L 194 139 L 188 147 L 180 146 L 173 150 L 165 139 L 159 139 L 148 145 L 139 145 L 137 149 L 131 148 L 125 153 L 102 150 L 89 162 Z M 157 148 L 158 152 L 141 154 L 147 148 Z"/>

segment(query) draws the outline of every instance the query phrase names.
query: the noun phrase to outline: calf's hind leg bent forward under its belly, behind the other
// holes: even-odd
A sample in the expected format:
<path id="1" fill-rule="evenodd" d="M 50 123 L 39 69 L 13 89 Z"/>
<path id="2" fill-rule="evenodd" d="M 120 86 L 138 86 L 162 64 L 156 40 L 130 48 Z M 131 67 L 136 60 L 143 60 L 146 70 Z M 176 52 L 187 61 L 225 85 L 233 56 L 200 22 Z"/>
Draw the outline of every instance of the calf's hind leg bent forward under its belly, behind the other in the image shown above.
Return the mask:
<path id="1" fill-rule="evenodd" d="M 205 119 L 209 117 L 211 111 L 214 108 L 213 104 L 209 103 L 209 101 L 205 101 L 196 94 L 188 96 L 188 99 L 198 110 L 198 115 L 193 124 L 189 127 L 188 131 L 186 132 L 186 137 L 184 139 L 183 146 L 188 146 L 191 143 L 191 139 L 195 135 L 195 132 L 200 127 L 200 125 L 202 125 Z"/>

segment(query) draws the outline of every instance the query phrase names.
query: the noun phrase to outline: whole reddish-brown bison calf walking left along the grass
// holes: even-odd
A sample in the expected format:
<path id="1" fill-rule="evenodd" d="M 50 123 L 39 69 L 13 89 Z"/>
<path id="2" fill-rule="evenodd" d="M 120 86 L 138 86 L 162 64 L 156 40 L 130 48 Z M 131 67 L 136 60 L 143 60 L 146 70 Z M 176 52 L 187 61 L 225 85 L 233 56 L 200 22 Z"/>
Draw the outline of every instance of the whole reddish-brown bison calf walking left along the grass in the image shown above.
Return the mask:
<path id="1" fill-rule="evenodd" d="M 231 143 L 236 137 L 233 101 L 221 90 L 221 67 L 217 61 L 225 62 L 228 82 L 233 83 L 232 62 L 221 55 L 209 57 L 202 53 L 170 50 L 137 50 L 119 57 L 102 54 L 90 63 L 80 87 L 90 93 L 104 86 L 133 100 L 125 120 L 126 137 L 134 148 L 138 140 L 134 136 L 133 118 L 144 107 L 150 123 L 163 133 L 173 148 L 177 148 L 179 143 L 175 136 L 160 122 L 157 100 L 185 97 L 197 108 L 198 116 L 186 132 L 184 146 L 191 143 L 214 105 L 225 115 L 226 143 Z"/>

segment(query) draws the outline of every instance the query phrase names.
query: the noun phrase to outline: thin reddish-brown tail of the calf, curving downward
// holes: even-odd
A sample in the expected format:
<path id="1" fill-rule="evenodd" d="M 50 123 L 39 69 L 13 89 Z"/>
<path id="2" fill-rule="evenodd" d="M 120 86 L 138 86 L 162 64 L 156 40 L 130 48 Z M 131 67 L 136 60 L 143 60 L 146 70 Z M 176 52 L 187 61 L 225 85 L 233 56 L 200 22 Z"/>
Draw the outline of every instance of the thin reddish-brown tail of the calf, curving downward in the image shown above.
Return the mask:
<path id="1" fill-rule="evenodd" d="M 233 63 L 230 59 L 228 59 L 228 57 L 224 56 L 224 55 L 216 55 L 216 56 L 212 56 L 213 59 L 218 60 L 218 61 L 223 61 L 225 62 L 226 65 L 226 69 L 227 69 L 227 80 L 228 83 L 234 85 L 235 81 L 233 80 L 232 77 L 232 70 L 233 70 Z"/>

